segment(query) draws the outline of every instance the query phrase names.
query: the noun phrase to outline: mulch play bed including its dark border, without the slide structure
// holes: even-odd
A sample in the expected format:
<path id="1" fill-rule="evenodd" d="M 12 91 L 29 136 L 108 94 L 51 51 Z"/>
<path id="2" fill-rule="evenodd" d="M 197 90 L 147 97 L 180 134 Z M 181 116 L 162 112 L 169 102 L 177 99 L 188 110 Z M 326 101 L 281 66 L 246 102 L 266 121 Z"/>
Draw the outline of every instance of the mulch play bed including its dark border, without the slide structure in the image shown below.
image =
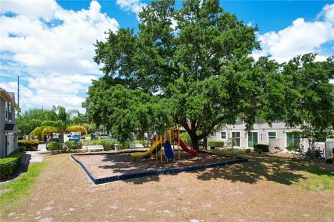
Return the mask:
<path id="1" fill-rule="evenodd" d="M 180 152 L 180 160 L 172 160 L 168 163 L 166 160 L 161 162 L 160 155 L 158 155 L 158 161 L 155 160 L 155 155 L 134 160 L 130 153 L 74 154 L 72 158 L 83 167 L 95 184 L 247 162 L 247 159 L 239 157 L 227 157 L 205 152 L 194 156 L 183 151 Z M 177 159 L 176 156 L 175 159 Z"/>

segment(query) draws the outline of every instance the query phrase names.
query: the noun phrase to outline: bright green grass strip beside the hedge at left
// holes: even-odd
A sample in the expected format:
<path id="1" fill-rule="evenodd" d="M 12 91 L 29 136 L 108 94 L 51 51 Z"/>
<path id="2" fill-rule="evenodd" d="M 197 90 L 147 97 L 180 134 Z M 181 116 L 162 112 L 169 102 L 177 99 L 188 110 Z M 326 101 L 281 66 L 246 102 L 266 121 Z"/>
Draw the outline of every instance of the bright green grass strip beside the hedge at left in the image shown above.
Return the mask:
<path id="1" fill-rule="evenodd" d="M 48 162 L 29 164 L 26 173 L 15 180 L 0 184 L 0 191 L 3 192 L 3 194 L 0 195 L 0 208 L 2 210 L 5 209 L 9 203 L 10 205 L 15 205 L 16 200 L 28 195 L 35 178 L 40 175 L 40 172 L 47 164 Z"/>

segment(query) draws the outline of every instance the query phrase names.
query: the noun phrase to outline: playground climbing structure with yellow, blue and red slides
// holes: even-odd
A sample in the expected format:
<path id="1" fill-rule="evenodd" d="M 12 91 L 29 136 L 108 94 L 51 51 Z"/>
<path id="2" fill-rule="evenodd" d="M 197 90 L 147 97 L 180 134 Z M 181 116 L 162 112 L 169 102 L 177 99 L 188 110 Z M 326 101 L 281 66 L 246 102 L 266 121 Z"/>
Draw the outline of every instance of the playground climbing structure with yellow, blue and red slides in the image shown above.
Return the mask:
<path id="1" fill-rule="evenodd" d="M 192 155 L 197 155 L 196 150 L 191 150 L 182 142 L 180 139 L 180 126 L 177 126 L 177 129 L 170 127 L 169 130 L 166 130 L 164 135 L 155 135 L 152 139 L 152 146 L 145 152 L 136 152 L 131 153 L 132 157 L 146 157 L 152 155 L 155 151 L 155 160 L 158 160 L 158 153 L 160 151 L 160 160 L 164 161 L 164 156 L 166 161 L 175 160 L 175 143 L 177 143 L 177 160 L 180 160 L 180 147 L 187 153 Z M 172 148 L 173 145 L 173 148 Z M 164 149 L 164 152 L 163 152 Z"/>

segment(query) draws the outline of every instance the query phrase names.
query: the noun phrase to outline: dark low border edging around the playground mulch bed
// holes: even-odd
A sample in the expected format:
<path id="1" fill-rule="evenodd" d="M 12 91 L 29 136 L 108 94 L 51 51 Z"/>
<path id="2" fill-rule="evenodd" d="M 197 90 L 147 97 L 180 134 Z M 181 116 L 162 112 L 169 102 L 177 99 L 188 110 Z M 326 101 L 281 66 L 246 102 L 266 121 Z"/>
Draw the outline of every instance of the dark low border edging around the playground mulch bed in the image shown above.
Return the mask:
<path id="1" fill-rule="evenodd" d="M 75 162 L 80 164 L 80 166 L 84 169 L 84 171 L 87 173 L 90 180 L 92 180 L 95 185 L 100 185 L 100 184 L 103 184 L 103 183 L 106 183 L 106 182 L 113 182 L 113 181 L 117 181 L 117 180 L 129 180 L 129 179 L 133 179 L 133 178 L 141 178 L 141 177 L 144 177 L 144 176 L 159 176 L 160 174 L 198 171 L 200 169 L 207 169 L 207 168 L 212 168 L 212 167 L 223 167 L 225 165 L 239 164 L 241 162 L 248 162 L 248 159 L 246 159 L 246 158 L 219 155 L 219 156 L 223 156 L 223 157 L 232 157 L 232 158 L 237 159 L 237 160 L 225 160 L 225 161 L 216 162 L 216 163 L 213 163 L 213 164 L 203 164 L 203 165 L 193 166 L 193 167 L 182 167 L 182 168 L 173 168 L 173 169 L 158 169 L 156 171 L 124 173 L 122 175 L 109 176 L 109 177 L 106 177 L 106 178 L 95 178 L 93 176 L 93 174 L 90 173 L 90 171 L 85 167 L 85 165 L 75 157 L 76 155 L 101 155 L 101 154 L 117 155 L 117 154 L 121 154 L 121 153 L 133 153 L 133 152 L 134 151 L 120 152 L 120 153 L 100 152 L 100 153 L 72 154 L 71 157 Z M 208 153 L 208 152 L 199 151 L 199 153 Z M 214 153 L 208 153 L 208 154 L 216 155 Z"/>

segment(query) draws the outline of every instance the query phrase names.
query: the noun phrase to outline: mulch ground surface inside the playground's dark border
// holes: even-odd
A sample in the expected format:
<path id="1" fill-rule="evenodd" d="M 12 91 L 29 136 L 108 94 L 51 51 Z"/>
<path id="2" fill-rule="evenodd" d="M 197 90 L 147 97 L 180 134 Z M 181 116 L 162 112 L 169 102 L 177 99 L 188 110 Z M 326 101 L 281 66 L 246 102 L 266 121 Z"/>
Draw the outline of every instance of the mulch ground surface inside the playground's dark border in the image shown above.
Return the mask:
<path id="1" fill-rule="evenodd" d="M 163 162 L 155 159 L 155 155 L 148 158 L 132 157 L 129 153 L 116 155 L 76 155 L 75 156 L 85 167 L 93 174 L 95 178 L 105 178 L 108 176 L 117 176 L 125 173 L 138 173 L 145 171 L 177 169 L 184 167 L 197 167 L 204 164 L 214 164 L 226 160 L 235 160 L 231 157 L 212 155 L 209 153 L 198 153 L 194 156 L 189 153 L 181 152 L 180 160 Z"/>

